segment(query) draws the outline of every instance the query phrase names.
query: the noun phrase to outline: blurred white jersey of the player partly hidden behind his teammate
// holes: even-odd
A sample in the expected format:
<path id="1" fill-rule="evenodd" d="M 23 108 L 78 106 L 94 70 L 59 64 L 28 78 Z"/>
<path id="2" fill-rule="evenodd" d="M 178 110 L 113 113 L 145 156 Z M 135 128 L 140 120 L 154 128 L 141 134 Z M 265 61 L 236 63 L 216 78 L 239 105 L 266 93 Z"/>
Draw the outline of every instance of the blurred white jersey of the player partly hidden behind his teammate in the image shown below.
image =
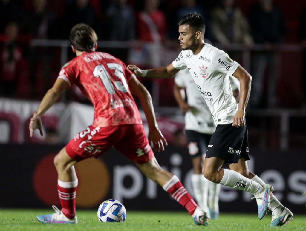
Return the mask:
<path id="1" fill-rule="evenodd" d="M 179 71 L 175 75 L 174 82 L 177 86 L 186 88 L 187 102 L 192 106 L 190 111 L 185 114 L 185 129 L 213 134 L 216 126 L 211 112 L 188 69 Z"/>

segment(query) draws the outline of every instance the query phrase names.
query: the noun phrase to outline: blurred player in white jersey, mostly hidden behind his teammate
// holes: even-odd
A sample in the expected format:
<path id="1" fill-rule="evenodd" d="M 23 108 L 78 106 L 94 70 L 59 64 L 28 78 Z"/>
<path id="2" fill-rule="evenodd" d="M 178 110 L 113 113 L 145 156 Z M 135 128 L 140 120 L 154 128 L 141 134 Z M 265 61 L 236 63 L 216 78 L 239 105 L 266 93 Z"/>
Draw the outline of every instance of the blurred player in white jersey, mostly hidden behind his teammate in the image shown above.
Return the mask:
<path id="1" fill-rule="evenodd" d="M 230 76 L 230 83 L 234 96 L 238 97 L 239 80 Z M 214 120 L 187 68 L 175 75 L 173 93 L 177 104 L 185 113 L 185 131 L 193 167 L 191 183 L 196 201 L 205 212 L 211 215 L 211 218 L 217 219 L 220 184 L 207 180 L 202 174 L 202 163 L 208 143 L 216 129 Z"/>

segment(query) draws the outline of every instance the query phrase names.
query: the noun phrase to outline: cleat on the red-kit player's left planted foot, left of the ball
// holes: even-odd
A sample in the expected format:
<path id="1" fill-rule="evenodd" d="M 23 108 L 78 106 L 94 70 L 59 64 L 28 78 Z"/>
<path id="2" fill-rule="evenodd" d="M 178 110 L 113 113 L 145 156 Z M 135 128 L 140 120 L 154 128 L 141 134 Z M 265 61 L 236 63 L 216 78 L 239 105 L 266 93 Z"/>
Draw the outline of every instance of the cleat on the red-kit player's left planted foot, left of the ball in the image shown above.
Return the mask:
<path id="1" fill-rule="evenodd" d="M 76 224 L 77 218 L 76 216 L 72 219 L 67 218 L 61 210 L 59 210 L 55 205 L 52 206 L 54 208 L 55 213 L 47 214 L 47 215 L 38 215 L 36 218 L 40 222 L 47 223 L 55 223 L 55 224 Z"/>

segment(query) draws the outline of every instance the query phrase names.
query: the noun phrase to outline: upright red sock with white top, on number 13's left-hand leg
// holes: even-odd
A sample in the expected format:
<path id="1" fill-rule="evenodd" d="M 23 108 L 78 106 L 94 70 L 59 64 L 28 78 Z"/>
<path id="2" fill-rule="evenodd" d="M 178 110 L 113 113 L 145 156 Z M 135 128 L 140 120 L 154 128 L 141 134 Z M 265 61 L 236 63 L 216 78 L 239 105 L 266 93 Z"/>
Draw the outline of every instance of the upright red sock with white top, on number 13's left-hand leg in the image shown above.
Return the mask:
<path id="1" fill-rule="evenodd" d="M 67 218 L 72 219 L 76 215 L 77 180 L 74 182 L 61 182 L 58 180 L 57 186 L 62 212 Z"/>

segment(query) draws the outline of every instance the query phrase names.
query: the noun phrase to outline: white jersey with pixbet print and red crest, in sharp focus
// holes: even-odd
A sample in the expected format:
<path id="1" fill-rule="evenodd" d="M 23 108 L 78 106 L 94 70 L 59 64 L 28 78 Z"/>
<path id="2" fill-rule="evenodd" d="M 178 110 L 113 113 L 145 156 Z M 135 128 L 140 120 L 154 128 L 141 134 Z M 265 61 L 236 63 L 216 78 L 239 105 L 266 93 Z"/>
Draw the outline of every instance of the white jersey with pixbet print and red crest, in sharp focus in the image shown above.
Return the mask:
<path id="1" fill-rule="evenodd" d="M 237 62 L 224 51 L 206 43 L 197 55 L 191 50 L 183 50 L 172 64 L 177 69 L 188 68 L 215 125 L 233 123 L 238 103 L 233 96 L 229 76 L 239 66 Z"/>

